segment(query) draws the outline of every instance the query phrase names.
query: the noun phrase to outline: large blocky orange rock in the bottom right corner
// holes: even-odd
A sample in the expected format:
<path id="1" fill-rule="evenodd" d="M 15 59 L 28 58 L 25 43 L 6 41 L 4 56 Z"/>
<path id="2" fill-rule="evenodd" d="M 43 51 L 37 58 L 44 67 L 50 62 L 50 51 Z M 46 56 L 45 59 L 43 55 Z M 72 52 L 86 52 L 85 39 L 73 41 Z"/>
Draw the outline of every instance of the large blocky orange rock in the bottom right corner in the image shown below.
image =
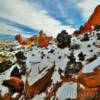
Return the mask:
<path id="1" fill-rule="evenodd" d="M 78 83 L 81 83 L 84 86 L 84 89 L 78 86 L 77 100 L 99 100 L 100 99 L 99 80 L 100 80 L 100 71 L 81 74 L 81 76 L 78 78 Z"/>

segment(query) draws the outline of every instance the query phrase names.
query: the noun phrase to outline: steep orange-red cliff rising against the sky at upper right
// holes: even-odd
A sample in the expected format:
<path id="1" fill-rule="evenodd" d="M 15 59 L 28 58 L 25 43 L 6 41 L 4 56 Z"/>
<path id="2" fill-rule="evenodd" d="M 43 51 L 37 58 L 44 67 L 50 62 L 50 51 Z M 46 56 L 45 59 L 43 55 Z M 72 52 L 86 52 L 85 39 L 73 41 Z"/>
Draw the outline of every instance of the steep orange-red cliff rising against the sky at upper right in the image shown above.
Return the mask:
<path id="1" fill-rule="evenodd" d="M 88 19 L 88 21 L 84 24 L 84 26 L 80 27 L 80 31 L 87 32 L 92 30 L 92 26 L 95 26 L 97 24 L 100 24 L 100 5 L 98 5 L 91 17 Z"/>

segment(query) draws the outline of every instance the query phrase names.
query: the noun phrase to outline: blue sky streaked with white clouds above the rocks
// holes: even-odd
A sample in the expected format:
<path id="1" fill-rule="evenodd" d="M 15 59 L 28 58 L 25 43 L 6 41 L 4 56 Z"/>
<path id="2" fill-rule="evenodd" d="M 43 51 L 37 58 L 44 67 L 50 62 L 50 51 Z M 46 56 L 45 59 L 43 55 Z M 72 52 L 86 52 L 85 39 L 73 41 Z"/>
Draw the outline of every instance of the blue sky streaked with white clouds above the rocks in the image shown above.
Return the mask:
<path id="1" fill-rule="evenodd" d="M 100 0 L 0 0 L 0 37 L 24 37 L 41 29 L 56 36 L 72 33 L 89 18 Z"/>

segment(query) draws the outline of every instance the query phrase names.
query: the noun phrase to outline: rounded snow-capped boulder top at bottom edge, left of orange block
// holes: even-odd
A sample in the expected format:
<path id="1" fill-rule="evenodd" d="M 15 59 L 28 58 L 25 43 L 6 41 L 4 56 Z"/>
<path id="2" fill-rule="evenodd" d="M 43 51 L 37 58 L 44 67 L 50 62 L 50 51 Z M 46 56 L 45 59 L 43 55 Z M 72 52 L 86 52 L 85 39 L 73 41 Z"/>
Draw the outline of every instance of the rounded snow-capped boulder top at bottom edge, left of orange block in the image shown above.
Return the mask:
<path id="1" fill-rule="evenodd" d="M 77 83 L 64 83 L 57 91 L 56 96 L 58 100 L 76 99 L 77 97 Z"/>

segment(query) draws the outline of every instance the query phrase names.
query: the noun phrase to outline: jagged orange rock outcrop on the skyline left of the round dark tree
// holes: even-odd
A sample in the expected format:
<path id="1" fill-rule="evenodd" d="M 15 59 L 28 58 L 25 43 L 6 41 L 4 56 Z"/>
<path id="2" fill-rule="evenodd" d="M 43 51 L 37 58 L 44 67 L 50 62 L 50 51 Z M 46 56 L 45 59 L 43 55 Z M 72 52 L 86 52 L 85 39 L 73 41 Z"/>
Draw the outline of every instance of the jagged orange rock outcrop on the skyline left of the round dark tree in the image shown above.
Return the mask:
<path id="1" fill-rule="evenodd" d="M 22 36 L 16 35 L 15 39 L 20 43 L 28 46 L 32 46 L 32 42 L 34 41 L 36 44 L 38 44 L 41 48 L 48 46 L 50 41 L 52 41 L 52 37 L 47 37 L 46 34 L 43 31 L 40 31 L 38 36 L 33 36 L 30 38 L 26 38 L 26 40 L 22 39 Z"/>

